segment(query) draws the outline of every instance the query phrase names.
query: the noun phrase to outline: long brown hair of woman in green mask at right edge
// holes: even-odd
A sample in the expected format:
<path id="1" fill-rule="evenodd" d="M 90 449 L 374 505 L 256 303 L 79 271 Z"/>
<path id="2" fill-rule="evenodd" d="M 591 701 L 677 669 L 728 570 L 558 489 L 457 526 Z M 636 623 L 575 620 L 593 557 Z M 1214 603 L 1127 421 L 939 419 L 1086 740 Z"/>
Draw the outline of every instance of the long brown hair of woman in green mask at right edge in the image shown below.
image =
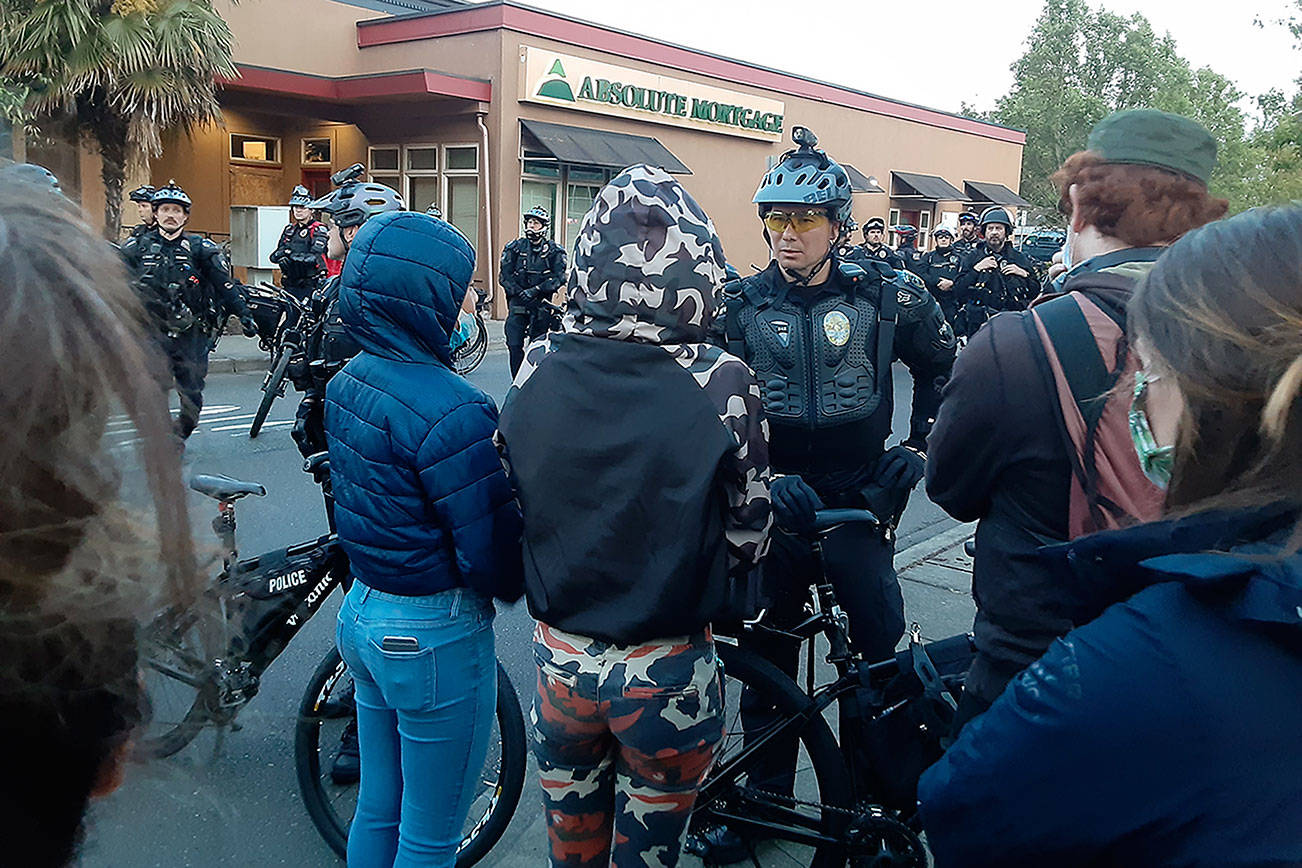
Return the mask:
<path id="1" fill-rule="evenodd" d="M 1302 204 L 1189 233 L 1129 316 L 1185 396 L 1168 508 L 1302 504 Z"/>

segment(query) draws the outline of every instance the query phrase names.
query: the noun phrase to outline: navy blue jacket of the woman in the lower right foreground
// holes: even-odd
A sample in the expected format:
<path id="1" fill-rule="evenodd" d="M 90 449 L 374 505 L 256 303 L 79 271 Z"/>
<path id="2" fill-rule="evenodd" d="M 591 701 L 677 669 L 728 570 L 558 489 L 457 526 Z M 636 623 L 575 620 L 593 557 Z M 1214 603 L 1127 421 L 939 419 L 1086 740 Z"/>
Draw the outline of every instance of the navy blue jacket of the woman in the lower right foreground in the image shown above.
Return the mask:
<path id="1" fill-rule="evenodd" d="M 1047 549 L 1085 626 L 922 776 L 936 865 L 1302 865 L 1297 521 L 1206 513 Z"/>

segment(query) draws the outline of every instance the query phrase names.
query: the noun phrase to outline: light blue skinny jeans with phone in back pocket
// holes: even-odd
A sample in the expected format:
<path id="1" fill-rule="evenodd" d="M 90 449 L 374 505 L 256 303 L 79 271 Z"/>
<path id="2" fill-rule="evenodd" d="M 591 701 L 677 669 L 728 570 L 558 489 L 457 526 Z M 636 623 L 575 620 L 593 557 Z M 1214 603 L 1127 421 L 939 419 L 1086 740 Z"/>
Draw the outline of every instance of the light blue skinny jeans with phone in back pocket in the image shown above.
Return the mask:
<path id="1" fill-rule="evenodd" d="M 358 580 L 345 596 L 335 638 L 362 753 L 350 868 L 456 864 L 496 709 L 492 618 L 466 588 L 404 597 Z"/>

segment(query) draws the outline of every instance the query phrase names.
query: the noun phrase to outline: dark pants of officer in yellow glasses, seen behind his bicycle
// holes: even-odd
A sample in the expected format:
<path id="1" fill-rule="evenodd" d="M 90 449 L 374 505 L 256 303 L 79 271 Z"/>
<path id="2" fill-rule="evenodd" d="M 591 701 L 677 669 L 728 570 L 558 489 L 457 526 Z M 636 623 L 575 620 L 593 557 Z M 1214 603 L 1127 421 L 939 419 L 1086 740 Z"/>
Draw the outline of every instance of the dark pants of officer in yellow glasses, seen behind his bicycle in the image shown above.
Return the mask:
<path id="1" fill-rule="evenodd" d="M 824 498 L 829 500 L 829 498 Z M 828 504 L 832 505 L 831 502 Z M 836 502 L 837 506 L 862 508 L 863 502 Z M 760 575 L 769 614 L 766 623 L 773 627 L 794 626 L 805 616 L 810 584 L 827 570 L 836 599 L 850 618 L 850 640 L 868 661 L 885 660 L 904 636 L 904 596 L 894 571 L 894 543 L 881 531 L 866 524 L 845 524 L 823 543 L 823 563 L 811 544 L 785 531 L 773 530 L 768 557 Z M 797 679 L 801 644 L 772 634 L 743 634 L 740 644 L 766 657 L 775 666 Z M 771 708 L 746 691 L 741 699 L 742 729 L 762 730 L 777 720 Z M 780 794 L 790 794 L 796 778 L 796 739 L 773 742 L 764 761 L 754 769 L 751 785 Z"/>

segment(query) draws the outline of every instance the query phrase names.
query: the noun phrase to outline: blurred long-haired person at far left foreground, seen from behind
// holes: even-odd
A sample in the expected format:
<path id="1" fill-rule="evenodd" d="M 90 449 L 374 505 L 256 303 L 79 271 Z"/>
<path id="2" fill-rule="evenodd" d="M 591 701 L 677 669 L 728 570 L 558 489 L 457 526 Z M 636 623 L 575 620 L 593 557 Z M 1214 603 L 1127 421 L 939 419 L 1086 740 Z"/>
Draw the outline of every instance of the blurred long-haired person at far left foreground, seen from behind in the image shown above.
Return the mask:
<path id="1" fill-rule="evenodd" d="M 0 185 L 0 782 L 5 864 L 76 855 L 143 716 L 137 634 L 198 583 L 145 315 L 76 206 Z M 116 414 L 116 418 L 115 418 Z M 109 424 L 112 419 L 112 426 Z M 134 457 L 105 432 L 130 426 Z M 116 463 L 134 461 L 130 510 Z"/>

